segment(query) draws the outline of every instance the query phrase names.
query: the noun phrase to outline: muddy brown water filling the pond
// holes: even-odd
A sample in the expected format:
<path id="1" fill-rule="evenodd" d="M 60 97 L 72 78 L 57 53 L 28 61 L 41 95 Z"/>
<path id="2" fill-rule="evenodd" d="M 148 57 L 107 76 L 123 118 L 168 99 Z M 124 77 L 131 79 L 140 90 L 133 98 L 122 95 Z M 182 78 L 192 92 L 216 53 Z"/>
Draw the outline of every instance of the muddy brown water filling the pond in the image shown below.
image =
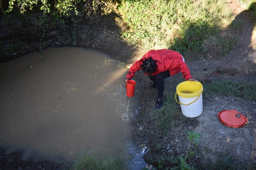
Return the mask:
<path id="1" fill-rule="evenodd" d="M 34 161 L 67 163 L 97 149 L 143 162 L 134 155 L 142 148 L 132 141 L 138 101 L 125 95 L 128 69 L 82 47 L 49 47 L 43 61 L 34 52 L 0 63 L 0 147 Z"/>

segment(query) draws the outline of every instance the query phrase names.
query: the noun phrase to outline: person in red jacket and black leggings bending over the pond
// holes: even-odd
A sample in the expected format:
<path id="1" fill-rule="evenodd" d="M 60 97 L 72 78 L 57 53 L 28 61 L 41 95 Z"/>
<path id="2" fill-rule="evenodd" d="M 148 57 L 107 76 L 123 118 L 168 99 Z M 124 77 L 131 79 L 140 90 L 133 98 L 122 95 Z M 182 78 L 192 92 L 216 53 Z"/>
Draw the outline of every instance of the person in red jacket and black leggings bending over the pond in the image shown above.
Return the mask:
<path id="1" fill-rule="evenodd" d="M 157 109 L 163 106 L 163 90 L 165 89 L 163 80 L 165 78 L 181 71 L 183 78 L 186 80 L 197 81 L 192 78 L 183 56 L 173 50 L 161 49 L 148 51 L 130 67 L 125 79 L 125 86 L 127 85 L 127 81 L 131 80 L 136 71 L 140 69 L 153 81 L 152 85 L 148 88 L 157 88 L 157 101 L 155 105 Z"/>

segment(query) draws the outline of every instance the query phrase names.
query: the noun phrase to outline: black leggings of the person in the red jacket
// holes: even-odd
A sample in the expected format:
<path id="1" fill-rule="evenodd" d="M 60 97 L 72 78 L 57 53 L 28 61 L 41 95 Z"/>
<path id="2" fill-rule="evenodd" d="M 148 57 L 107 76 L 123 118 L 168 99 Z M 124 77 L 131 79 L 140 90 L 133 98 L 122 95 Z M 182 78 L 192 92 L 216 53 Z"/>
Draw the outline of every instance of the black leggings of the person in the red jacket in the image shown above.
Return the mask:
<path id="1" fill-rule="evenodd" d="M 163 82 L 163 80 L 165 78 L 170 77 L 170 71 L 165 71 L 165 72 L 161 72 L 159 74 L 156 75 L 149 75 L 148 77 L 154 82 L 156 83 L 156 88 L 157 88 L 157 97 L 159 99 L 163 98 L 163 90 L 165 89 L 165 83 Z"/>

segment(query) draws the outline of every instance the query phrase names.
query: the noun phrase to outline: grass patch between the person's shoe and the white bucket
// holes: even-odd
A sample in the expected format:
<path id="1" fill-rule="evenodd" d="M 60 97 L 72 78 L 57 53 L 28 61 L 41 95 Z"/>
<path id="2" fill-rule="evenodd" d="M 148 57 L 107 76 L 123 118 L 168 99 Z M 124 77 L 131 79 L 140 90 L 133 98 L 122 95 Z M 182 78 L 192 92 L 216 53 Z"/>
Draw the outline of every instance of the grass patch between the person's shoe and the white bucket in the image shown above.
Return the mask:
<path id="1" fill-rule="evenodd" d="M 170 128 L 186 122 L 187 117 L 181 114 L 180 107 L 175 98 L 175 92 L 165 93 L 165 104 L 159 110 L 153 110 L 150 115 L 155 120 L 156 126 L 160 128 L 165 136 Z"/>

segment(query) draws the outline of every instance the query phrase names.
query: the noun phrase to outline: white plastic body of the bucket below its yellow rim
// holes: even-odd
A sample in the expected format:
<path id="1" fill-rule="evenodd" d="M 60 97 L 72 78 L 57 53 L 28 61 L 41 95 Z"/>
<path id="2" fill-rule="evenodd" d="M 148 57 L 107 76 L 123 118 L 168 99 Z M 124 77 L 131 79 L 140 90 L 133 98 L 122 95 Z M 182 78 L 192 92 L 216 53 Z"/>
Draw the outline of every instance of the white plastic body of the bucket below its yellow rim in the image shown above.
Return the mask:
<path id="1" fill-rule="evenodd" d="M 179 96 L 179 100 L 181 103 L 188 104 L 188 105 L 181 104 L 181 112 L 184 116 L 193 118 L 193 117 L 200 116 L 203 113 L 202 93 L 200 94 L 198 99 L 197 99 L 197 97 L 198 96 L 191 97 L 191 98 L 184 98 L 184 97 Z M 195 102 L 193 102 L 193 101 L 195 101 Z M 191 103 L 191 102 L 193 102 L 193 103 Z M 189 103 L 191 103 L 191 104 L 189 104 Z"/>

